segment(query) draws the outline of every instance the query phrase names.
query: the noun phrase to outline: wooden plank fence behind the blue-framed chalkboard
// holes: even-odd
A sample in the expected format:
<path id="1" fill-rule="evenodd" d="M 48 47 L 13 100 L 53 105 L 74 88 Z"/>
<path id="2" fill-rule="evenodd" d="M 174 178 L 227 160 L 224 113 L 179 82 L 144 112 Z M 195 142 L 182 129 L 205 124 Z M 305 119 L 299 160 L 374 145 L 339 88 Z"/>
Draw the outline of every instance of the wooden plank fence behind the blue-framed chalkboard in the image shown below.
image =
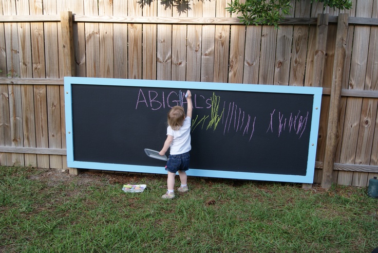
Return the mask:
<path id="1" fill-rule="evenodd" d="M 67 169 L 64 76 L 322 86 L 314 182 L 366 186 L 378 4 L 309 2 L 293 0 L 275 29 L 241 25 L 225 0 L 0 1 L 0 165 Z"/>

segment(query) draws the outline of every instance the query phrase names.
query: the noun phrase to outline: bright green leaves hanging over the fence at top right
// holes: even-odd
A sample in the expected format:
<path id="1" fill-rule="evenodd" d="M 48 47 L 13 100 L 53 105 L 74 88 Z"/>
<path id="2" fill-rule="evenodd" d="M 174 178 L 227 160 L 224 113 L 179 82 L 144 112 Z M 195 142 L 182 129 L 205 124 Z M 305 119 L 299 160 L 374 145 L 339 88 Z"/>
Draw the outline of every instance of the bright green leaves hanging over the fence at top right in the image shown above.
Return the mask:
<path id="1" fill-rule="evenodd" d="M 298 0 L 299 1 L 299 0 Z M 311 3 L 322 2 L 324 8 L 334 9 L 352 8 L 351 0 L 309 0 Z M 230 13 L 238 13 L 238 19 L 245 25 L 274 25 L 278 28 L 278 23 L 284 19 L 285 15 L 290 14 L 291 0 L 246 0 L 240 3 L 239 0 L 233 1 L 226 7 Z"/>

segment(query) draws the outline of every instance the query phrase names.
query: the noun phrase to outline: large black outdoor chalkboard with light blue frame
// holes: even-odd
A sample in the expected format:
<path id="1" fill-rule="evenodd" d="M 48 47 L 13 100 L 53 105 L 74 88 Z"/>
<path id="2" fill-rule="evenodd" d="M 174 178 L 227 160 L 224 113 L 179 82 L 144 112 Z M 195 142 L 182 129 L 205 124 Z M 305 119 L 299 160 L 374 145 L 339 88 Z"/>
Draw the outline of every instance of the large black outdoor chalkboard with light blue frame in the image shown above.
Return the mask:
<path id="1" fill-rule="evenodd" d="M 188 175 L 312 183 L 322 88 L 66 77 L 67 164 L 166 173 L 169 109 L 193 101 Z M 169 150 L 168 150 L 169 153 Z M 167 153 L 167 155 L 168 155 Z"/>

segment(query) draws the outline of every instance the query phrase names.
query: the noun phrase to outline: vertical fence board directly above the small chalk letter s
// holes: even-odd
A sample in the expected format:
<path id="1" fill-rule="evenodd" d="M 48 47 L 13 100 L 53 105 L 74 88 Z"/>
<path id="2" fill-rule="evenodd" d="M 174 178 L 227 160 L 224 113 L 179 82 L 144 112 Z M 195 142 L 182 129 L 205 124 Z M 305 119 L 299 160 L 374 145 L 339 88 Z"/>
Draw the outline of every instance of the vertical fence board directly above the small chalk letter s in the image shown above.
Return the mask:
<path id="1" fill-rule="evenodd" d="M 216 1 L 203 2 L 203 16 L 215 16 Z M 201 82 L 214 82 L 215 25 L 202 26 Z"/>

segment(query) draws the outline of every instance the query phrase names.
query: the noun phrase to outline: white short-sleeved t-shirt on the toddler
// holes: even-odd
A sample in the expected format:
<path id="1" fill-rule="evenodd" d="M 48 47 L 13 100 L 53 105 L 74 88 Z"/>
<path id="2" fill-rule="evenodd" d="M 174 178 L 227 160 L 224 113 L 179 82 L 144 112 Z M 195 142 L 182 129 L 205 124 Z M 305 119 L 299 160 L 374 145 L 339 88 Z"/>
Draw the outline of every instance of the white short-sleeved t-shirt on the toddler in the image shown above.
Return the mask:
<path id="1" fill-rule="evenodd" d="M 173 136 L 173 141 L 169 147 L 169 154 L 179 155 L 186 153 L 192 149 L 191 146 L 191 121 L 190 117 L 186 117 L 184 124 L 179 130 L 173 130 L 168 125 L 167 135 Z"/>

